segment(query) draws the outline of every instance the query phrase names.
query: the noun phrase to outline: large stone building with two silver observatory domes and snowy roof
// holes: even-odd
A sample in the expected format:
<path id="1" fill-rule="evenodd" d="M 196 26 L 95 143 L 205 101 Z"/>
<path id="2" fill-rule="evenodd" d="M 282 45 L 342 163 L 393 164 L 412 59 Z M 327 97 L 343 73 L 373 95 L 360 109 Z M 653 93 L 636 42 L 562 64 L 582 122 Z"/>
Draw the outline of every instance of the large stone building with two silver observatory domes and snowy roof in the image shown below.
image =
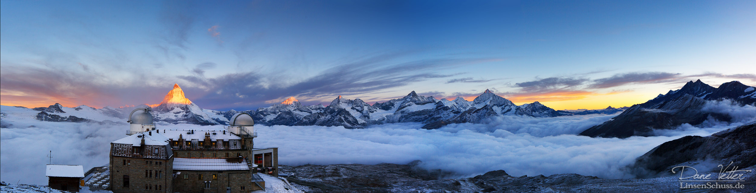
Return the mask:
<path id="1" fill-rule="evenodd" d="M 250 192 L 265 187 L 258 173 L 278 175 L 278 149 L 254 148 L 246 113 L 217 130 L 161 130 L 150 111 L 132 111 L 129 136 L 110 144 L 113 192 Z"/>

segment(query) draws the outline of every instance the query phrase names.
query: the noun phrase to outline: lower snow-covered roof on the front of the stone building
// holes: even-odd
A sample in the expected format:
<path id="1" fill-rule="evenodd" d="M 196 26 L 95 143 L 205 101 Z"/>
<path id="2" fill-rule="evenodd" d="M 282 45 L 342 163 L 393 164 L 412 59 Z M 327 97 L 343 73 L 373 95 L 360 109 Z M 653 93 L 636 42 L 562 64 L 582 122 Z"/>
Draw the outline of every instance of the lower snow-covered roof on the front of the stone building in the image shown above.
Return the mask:
<path id="1" fill-rule="evenodd" d="M 249 170 L 246 161 L 228 162 L 225 158 L 173 158 L 173 170 Z"/>

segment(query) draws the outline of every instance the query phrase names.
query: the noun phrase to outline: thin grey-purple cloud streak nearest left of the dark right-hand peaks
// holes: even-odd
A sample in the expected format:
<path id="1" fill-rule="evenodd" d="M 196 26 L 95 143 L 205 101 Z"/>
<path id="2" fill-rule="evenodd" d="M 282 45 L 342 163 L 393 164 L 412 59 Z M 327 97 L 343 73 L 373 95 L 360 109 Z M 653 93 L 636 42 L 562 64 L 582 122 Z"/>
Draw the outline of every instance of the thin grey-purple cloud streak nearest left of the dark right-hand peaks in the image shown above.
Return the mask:
<path id="1" fill-rule="evenodd" d="M 612 75 L 609 78 L 594 80 L 591 88 L 618 87 L 624 84 L 653 84 L 662 82 L 678 81 L 680 73 L 669 72 L 630 72 Z"/>

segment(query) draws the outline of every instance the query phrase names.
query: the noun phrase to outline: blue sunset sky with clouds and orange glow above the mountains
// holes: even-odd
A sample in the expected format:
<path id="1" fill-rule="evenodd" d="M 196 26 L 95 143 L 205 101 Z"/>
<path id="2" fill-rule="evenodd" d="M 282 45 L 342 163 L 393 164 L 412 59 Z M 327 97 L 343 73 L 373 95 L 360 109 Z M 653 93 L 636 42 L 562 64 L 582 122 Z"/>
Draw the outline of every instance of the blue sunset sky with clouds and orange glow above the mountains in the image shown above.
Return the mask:
<path id="1" fill-rule="evenodd" d="M 204 109 L 490 89 L 631 106 L 701 79 L 756 85 L 754 1 L 0 2 L 0 105 Z"/>

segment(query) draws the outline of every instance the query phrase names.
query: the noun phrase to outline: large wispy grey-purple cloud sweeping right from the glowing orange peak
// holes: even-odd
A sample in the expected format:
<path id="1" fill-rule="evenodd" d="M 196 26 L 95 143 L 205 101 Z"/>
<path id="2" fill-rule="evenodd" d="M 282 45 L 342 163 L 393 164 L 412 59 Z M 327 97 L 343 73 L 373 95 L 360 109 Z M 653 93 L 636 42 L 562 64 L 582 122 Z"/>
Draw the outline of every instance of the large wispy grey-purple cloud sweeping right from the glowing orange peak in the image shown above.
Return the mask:
<path id="1" fill-rule="evenodd" d="M 402 87 L 417 81 L 432 78 L 447 78 L 451 75 L 434 73 L 438 69 L 478 63 L 485 59 L 434 59 L 392 63 L 392 57 L 367 57 L 325 69 L 318 75 L 300 81 L 277 75 L 255 72 L 238 72 L 215 78 L 184 75 L 178 78 L 203 87 L 203 97 L 195 103 L 215 103 L 209 109 L 251 108 L 262 103 L 288 96 L 305 101 L 329 103 L 339 95 L 364 95 Z M 185 89 L 186 90 L 186 89 Z M 218 101 L 240 101 L 223 103 Z"/>

